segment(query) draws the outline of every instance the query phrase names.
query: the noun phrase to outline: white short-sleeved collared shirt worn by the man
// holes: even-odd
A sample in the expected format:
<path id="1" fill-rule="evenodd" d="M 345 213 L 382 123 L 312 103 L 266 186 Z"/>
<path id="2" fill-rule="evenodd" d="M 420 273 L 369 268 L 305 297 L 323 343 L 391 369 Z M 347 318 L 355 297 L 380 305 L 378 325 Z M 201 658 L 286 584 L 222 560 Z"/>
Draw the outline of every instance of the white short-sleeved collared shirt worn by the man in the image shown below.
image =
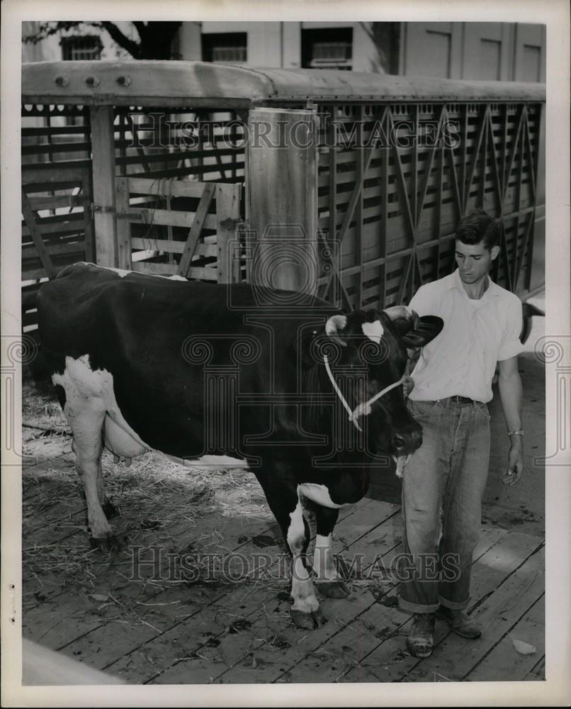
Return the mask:
<path id="1" fill-rule="evenodd" d="M 521 301 L 491 279 L 479 300 L 469 298 L 458 269 L 421 286 L 409 306 L 443 319 L 442 332 L 422 348 L 412 372 L 414 401 L 448 396 L 492 399 L 496 363 L 522 352 Z"/>

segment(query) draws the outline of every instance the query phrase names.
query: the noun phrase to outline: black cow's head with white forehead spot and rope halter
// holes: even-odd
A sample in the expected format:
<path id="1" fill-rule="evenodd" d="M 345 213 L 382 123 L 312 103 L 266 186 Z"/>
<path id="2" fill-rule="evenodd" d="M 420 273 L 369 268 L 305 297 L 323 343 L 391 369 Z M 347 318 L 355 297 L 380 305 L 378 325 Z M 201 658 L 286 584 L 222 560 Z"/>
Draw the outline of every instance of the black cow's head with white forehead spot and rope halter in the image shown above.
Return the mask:
<path id="1" fill-rule="evenodd" d="M 366 404 L 400 380 L 405 373 L 407 350 L 426 345 L 442 327 L 440 318 L 419 318 L 404 306 L 354 311 L 327 320 L 325 333 L 336 350 L 333 367 L 349 372 L 349 379 L 351 371 L 356 376 L 364 373 L 364 390 L 349 386 L 351 391 L 346 391 L 346 396 L 351 408 L 361 408 L 357 421 L 366 428 L 369 450 L 400 457 L 421 445 L 422 428 L 407 411 L 402 386 L 390 389 L 371 406 Z"/>

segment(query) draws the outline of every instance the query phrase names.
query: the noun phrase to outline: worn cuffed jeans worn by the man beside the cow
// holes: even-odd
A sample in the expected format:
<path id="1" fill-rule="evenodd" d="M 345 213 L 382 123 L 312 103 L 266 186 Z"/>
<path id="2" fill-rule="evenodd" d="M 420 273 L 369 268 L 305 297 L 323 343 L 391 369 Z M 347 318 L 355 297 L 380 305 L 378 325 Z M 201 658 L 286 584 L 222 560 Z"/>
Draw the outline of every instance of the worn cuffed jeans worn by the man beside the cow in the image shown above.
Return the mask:
<path id="1" fill-rule="evenodd" d="M 490 414 L 485 403 L 450 399 L 409 399 L 408 407 L 422 425 L 422 446 L 402 474 L 406 557 L 399 605 L 409 613 L 466 608 L 490 463 Z"/>

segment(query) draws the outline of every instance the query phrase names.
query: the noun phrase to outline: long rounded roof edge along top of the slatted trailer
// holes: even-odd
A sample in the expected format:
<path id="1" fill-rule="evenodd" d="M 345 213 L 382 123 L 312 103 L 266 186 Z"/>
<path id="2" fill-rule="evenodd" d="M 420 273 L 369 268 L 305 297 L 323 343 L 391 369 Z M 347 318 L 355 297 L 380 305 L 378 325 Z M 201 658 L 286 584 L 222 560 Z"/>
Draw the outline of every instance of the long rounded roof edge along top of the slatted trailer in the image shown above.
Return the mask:
<path id="1" fill-rule="evenodd" d="M 307 100 L 545 101 L 545 84 L 210 62 L 33 62 L 22 67 L 22 101 L 31 104 L 250 108 Z"/>

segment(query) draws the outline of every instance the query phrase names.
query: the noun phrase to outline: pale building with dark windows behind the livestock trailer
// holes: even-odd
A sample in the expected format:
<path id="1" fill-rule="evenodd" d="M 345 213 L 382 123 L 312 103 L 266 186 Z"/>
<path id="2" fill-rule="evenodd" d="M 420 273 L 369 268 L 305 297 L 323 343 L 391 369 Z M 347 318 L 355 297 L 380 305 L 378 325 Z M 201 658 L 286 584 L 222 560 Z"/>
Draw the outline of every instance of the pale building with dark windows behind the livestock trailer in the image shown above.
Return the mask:
<path id="1" fill-rule="evenodd" d="M 137 39 L 132 23 L 117 23 Z M 30 35 L 38 23 L 23 23 Z M 454 22 L 183 22 L 172 57 L 286 69 L 545 82 L 545 27 Z M 85 26 L 23 43 L 23 61 L 128 59 L 106 32 Z"/>

